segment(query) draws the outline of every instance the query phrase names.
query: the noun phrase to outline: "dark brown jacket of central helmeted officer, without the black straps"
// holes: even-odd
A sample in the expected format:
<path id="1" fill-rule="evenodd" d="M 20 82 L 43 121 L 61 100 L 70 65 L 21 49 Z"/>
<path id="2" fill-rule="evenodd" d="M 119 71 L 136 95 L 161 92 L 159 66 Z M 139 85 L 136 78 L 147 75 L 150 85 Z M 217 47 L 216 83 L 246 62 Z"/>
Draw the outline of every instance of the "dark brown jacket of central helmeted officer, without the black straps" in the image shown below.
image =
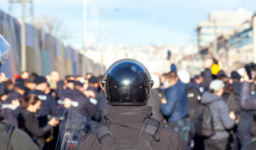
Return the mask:
<path id="1" fill-rule="evenodd" d="M 105 109 L 106 118 L 115 140 L 138 139 L 145 120 L 151 116 L 151 109 L 149 106 L 107 107 Z M 162 127 L 159 138 L 159 142 L 156 141 L 151 145 L 153 150 L 184 150 L 183 142 L 178 133 L 167 127 Z M 77 147 L 78 150 L 101 149 L 93 131 L 82 137 Z"/>

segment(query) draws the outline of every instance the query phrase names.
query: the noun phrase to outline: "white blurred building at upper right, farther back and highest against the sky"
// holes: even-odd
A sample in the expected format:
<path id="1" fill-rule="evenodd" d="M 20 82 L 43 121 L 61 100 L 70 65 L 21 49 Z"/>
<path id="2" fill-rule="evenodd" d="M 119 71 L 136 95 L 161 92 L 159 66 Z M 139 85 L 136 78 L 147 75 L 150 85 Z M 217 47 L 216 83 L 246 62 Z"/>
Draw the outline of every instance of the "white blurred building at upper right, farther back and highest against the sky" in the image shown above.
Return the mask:
<path id="1" fill-rule="evenodd" d="M 237 11 L 212 11 L 208 20 L 200 21 L 196 27 L 198 35 L 198 48 L 201 50 L 216 37 L 231 34 L 232 29 L 251 19 L 252 13 L 243 8 Z"/>

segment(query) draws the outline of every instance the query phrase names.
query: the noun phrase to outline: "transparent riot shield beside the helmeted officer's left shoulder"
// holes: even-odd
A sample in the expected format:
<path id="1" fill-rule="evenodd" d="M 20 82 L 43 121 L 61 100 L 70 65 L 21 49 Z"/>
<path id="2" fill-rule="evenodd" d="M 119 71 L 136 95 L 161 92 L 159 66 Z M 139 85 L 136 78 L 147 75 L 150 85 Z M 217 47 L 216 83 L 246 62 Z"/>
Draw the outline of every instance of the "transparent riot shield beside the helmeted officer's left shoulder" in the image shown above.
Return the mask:
<path id="1" fill-rule="evenodd" d="M 97 122 L 78 114 L 70 107 L 65 109 L 56 150 L 72 150 L 78 140 L 93 130 L 96 124 Z"/>

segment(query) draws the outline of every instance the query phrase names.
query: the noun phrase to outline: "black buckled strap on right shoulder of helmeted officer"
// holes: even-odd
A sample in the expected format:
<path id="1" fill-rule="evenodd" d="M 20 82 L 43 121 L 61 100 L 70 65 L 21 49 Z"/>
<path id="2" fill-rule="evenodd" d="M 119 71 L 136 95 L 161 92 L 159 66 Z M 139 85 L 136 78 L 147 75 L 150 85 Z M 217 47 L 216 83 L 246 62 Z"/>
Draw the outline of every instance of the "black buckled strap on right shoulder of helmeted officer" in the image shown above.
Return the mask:
<path id="1" fill-rule="evenodd" d="M 155 141 L 159 141 L 159 132 L 162 128 L 162 124 L 154 118 L 148 118 L 140 133 L 140 139 L 145 140 L 149 145 L 152 145 Z"/>

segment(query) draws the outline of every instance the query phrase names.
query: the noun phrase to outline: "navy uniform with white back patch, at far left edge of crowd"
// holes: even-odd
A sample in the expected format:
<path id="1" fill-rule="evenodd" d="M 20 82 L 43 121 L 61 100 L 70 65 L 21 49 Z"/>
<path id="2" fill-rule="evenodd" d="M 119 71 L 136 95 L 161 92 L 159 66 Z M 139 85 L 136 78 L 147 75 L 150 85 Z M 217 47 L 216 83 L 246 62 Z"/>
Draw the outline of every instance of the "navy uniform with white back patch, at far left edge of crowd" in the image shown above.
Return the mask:
<path id="1" fill-rule="evenodd" d="M 18 121 L 16 117 L 13 115 L 13 111 L 16 109 L 12 104 L 12 100 L 21 99 L 23 96 L 16 91 L 10 92 L 10 96 L 3 102 L 3 108 L 1 109 L 1 113 L 3 117 L 15 127 L 18 127 Z"/>

